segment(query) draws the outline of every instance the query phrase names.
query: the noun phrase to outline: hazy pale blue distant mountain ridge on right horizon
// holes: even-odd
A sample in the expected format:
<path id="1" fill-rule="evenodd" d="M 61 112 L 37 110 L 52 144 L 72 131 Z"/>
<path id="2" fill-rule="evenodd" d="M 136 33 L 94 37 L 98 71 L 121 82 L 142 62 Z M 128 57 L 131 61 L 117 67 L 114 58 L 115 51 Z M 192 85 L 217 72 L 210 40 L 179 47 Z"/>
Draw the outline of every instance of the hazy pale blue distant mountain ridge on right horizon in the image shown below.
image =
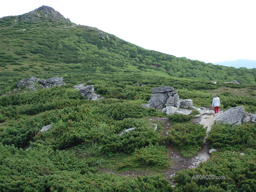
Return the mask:
<path id="1" fill-rule="evenodd" d="M 238 59 L 234 61 L 223 61 L 223 62 L 216 62 L 213 63 L 214 65 L 223 65 L 227 67 L 234 67 L 234 68 L 247 68 L 252 69 L 256 68 L 256 60 L 247 60 L 247 59 Z"/>

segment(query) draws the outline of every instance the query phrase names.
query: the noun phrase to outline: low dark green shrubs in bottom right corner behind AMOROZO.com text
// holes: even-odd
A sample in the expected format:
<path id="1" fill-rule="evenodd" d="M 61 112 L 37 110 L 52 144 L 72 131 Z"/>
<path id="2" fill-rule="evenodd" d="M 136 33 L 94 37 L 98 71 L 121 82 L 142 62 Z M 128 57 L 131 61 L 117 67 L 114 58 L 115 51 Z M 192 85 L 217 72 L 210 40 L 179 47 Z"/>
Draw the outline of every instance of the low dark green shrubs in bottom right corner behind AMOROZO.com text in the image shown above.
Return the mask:
<path id="1" fill-rule="evenodd" d="M 176 172 L 175 191 L 255 191 L 256 151 L 214 152 L 211 158 L 195 169 Z"/>

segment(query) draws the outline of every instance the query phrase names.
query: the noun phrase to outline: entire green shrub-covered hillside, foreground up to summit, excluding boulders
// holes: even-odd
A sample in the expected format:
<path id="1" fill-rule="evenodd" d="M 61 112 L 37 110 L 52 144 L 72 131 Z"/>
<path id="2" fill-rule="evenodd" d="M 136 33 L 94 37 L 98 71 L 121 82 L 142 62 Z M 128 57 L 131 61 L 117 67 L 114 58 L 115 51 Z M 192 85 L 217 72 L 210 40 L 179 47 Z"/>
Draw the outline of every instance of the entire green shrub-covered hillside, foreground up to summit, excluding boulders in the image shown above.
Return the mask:
<path id="1" fill-rule="evenodd" d="M 18 90 L 16 82 L 31 76 L 67 84 Z M 233 80 L 240 85 L 224 83 Z M 81 83 L 105 99 L 85 99 L 73 89 Z M 214 125 L 208 143 L 217 152 L 189 168 L 206 130 L 196 110 L 166 116 L 142 107 L 161 86 L 196 107 L 212 109 L 218 93 L 220 110 L 256 112 L 256 69 L 149 51 L 47 6 L 0 18 L 0 191 L 256 191 L 256 125 Z"/>

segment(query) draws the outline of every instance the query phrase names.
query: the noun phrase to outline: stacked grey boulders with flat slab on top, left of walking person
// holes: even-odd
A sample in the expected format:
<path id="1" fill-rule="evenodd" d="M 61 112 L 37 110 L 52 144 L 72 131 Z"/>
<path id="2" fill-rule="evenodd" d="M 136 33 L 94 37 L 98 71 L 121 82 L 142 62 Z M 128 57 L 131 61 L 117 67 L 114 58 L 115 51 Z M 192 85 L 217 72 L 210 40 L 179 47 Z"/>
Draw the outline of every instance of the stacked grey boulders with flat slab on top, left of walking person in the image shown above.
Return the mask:
<path id="1" fill-rule="evenodd" d="M 166 115 L 174 113 L 190 115 L 192 109 L 199 111 L 200 114 L 196 117 L 214 114 L 213 110 L 207 110 L 205 107 L 193 106 L 192 99 L 179 99 L 178 91 L 173 87 L 153 88 L 151 92 L 154 94 L 151 96 L 148 104 L 142 105 L 143 107 L 162 110 Z"/>

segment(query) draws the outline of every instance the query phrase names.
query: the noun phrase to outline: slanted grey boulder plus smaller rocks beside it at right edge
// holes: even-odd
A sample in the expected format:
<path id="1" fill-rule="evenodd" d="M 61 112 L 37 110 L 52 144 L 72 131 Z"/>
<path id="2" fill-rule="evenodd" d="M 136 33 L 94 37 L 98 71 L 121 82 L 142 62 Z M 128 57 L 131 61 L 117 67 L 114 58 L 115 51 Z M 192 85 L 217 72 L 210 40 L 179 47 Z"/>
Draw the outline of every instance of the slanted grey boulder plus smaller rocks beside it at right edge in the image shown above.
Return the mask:
<path id="1" fill-rule="evenodd" d="M 256 114 L 245 112 L 243 106 L 233 107 L 226 110 L 216 118 L 216 123 L 238 125 L 247 122 L 256 122 Z"/>

